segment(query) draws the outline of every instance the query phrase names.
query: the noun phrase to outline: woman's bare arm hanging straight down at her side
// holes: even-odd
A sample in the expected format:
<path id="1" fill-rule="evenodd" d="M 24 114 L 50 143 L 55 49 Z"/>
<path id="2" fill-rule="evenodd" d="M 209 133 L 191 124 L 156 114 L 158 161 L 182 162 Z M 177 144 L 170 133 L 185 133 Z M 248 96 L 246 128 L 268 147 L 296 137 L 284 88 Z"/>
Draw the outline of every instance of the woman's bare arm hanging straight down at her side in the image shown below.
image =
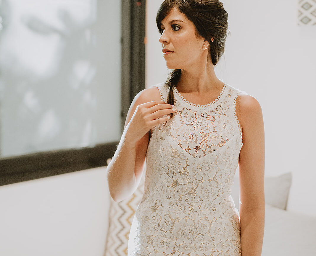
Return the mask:
<path id="1" fill-rule="evenodd" d="M 254 97 L 240 95 L 236 100 L 236 115 L 243 141 L 239 155 L 241 252 L 242 256 L 261 256 L 265 216 L 261 106 Z"/>

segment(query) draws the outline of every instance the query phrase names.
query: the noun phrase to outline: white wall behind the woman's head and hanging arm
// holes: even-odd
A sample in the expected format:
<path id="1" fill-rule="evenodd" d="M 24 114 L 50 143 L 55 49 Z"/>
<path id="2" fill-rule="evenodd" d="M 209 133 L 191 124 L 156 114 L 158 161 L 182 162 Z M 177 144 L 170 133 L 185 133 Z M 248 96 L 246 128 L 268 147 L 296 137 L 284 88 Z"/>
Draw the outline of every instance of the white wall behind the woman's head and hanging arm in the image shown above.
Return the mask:
<path id="1" fill-rule="evenodd" d="M 288 210 L 316 216 L 316 26 L 297 25 L 296 0 L 222 2 L 231 36 L 217 76 L 260 102 L 265 175 L 292 172 Z M 146 2 L 146 87 L 169 72 L 155 24 L 161 3 Z"/>

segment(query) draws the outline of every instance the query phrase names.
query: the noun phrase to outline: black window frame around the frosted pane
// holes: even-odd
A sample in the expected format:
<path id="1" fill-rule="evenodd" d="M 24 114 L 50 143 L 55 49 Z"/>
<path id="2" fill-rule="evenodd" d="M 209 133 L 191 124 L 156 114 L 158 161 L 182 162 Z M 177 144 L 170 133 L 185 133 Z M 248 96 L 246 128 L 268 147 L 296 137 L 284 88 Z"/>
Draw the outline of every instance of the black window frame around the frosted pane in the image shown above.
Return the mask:
<path id="1" fill-rule="evenodd" d="M 128 109 L 145 88 L 145 2 L 121 0 L 121 134 Z M 106 166 L 119 141 L 0 159 L 0 186 Z"/>

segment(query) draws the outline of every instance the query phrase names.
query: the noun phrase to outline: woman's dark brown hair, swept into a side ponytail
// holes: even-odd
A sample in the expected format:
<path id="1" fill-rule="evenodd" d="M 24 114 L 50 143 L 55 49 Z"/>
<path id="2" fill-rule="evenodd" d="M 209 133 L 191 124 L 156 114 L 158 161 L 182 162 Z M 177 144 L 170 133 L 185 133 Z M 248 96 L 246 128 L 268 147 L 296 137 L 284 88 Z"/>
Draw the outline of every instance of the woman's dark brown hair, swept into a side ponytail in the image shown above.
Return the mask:
<path id="1" fill-rule="evenodd" d="M 173 8 L 177 8 L 196 27 L 197 33 L 209 43 L 208 61 L 215 66 L 225 49 L 225 41 L 228 32 L 228 13 L 219 0 L 165 0 L 156 16 L 156 24 L 161 33 L 161 21 Z M 211 38 L 214 38 L 213 42 Z M 174 69 L 166 80 L 169 87 L 168 104 L 174 104 L 172 86 L 176 86 L 181 77 L 181 69 Z M 170 114 L 171 117 L 173 113 Z"/>

